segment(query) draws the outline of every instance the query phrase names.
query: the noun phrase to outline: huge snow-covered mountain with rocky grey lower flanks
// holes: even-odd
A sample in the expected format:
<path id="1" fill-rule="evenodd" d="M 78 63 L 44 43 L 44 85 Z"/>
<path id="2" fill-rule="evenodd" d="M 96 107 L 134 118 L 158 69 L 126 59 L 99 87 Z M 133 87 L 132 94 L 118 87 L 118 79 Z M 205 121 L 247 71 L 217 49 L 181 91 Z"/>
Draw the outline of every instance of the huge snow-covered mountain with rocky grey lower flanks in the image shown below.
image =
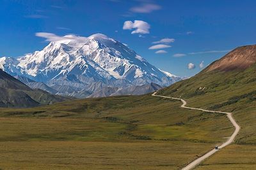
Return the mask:
<path id="1" fill-rule="evenodd" d="M 99 89 L 141 86 L 151 82 L 169 86 L 181 80 L 150 65 L 127 45 L 102 34 L 87 38 L 63 36 L 43 50 L 22 58 L 0 58 L 0 68 L 13 76 L 44 82 L 57 91 L 65 86 L 76 93 L 87 91 L 94 85 Z"/>

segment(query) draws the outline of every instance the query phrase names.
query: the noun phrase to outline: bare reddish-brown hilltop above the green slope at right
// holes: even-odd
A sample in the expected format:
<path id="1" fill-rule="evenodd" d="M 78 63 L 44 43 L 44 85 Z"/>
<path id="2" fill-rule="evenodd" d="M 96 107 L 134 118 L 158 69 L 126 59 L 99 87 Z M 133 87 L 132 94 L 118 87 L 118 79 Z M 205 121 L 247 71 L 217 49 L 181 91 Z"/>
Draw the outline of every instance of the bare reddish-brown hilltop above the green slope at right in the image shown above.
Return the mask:
<path id="1" fill-rule="evenodd" d="M 225 72 L 237 69 L 244 70 L 254 63 L 256 63 L 256 45 L 246 45 L 228 52 L 223 58 L 218 59 L 205 70 L 206 72 L 212 70 Z"/>

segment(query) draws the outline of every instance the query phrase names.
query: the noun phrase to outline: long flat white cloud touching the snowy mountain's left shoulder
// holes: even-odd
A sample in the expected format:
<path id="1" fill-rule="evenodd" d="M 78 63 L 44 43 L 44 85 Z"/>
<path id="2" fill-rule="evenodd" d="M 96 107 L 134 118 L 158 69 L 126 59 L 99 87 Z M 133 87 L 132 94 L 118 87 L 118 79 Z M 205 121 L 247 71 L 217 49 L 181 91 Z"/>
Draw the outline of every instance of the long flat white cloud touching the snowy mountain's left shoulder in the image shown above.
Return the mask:
<path id="1" fill-rule="evenodd" d="M 79 40 L 79 41 L 86 41 L 88 40 L 87 37 L 84 36 L 77 36 L 77 35 L 65 35 L 65 36 L 58 36 L 53 33 L 36 33 L 36 36 L 45 38 L 47 42 L 59 42 L 63 40 Z"/>

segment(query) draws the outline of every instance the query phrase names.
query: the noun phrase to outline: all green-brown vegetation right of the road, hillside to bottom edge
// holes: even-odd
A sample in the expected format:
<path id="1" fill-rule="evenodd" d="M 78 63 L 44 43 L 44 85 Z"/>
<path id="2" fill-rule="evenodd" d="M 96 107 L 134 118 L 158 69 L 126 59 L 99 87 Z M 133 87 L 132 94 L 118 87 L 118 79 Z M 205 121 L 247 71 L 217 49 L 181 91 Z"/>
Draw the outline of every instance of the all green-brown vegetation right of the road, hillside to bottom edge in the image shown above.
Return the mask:
<path id="1" fill-rule="evenodd" d="M 177 82 L 170 88 L 159 91 L 161 95 L 185 98 L 191 107 L 232 112 L 241 126 L 235 144 L 205 160 L 199 169 L 255 169 L 256 159 L 251 157 L 256 154 L 255 80 L 256 65 L 253 65 L 239 72 L 203 71 L 191 79 Z M 205 87 L 201 89 L 202 93 L 197 92 L 200 87 Z M 225 159 L 220 161 L 221 157 Z"/>

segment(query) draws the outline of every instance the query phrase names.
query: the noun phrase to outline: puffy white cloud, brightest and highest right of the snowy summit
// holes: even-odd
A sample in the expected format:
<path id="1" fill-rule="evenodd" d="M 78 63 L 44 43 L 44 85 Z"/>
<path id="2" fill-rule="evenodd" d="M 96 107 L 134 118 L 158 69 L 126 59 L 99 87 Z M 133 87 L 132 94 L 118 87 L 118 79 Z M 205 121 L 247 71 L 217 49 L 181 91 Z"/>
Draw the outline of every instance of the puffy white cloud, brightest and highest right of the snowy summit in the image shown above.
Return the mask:
<path id="1" fill-rule="evenodd" d="M 132 31 L 132 34 L 149 34 L 150 25 L 143 20 L 127 20 L 124 22 L 123 29 L 135 29 Z"/>

